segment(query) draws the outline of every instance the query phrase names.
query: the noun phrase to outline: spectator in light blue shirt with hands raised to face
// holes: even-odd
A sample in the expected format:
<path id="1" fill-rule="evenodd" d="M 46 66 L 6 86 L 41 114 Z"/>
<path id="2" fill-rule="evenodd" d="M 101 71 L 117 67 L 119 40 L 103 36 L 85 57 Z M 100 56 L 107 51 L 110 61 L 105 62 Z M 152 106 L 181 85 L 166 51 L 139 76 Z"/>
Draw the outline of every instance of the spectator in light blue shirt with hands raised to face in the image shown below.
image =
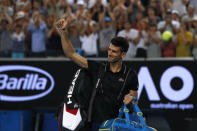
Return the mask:
<path id="1" fill-rule="evenodd" d="M 45 57 L 47 26 L 38 11 L 33 13 L 30 22 L 31 23 L 28 25 L 28 31 L 31 33 L 32 39 L 31 56 Z"/>

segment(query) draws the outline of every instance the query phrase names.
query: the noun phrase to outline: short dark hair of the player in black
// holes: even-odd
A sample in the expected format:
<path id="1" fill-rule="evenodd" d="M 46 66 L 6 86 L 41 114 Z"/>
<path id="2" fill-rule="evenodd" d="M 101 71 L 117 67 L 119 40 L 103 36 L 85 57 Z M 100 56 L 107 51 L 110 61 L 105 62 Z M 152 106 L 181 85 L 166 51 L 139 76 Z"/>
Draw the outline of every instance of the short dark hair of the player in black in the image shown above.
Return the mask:
<path id="1" fill-rule="evenodd" d="M 129 48 L 129 42 L 124 37 L 114 37 L 111 43 L 117 47 L 120 47 L 121 52 L 127 52 Z"/>

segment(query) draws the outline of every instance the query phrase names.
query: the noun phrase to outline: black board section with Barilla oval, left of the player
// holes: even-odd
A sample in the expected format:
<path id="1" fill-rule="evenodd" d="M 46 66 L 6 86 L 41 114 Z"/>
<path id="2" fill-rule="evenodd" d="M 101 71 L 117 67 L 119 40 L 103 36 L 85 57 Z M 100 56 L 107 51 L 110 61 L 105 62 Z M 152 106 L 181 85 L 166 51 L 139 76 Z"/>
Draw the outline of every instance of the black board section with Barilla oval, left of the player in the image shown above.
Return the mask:
<path id="1" fill-rule="evenodd" d="M 68 60 L 0 62 L 0 109 L 55 109 L 78 67 Z"/>

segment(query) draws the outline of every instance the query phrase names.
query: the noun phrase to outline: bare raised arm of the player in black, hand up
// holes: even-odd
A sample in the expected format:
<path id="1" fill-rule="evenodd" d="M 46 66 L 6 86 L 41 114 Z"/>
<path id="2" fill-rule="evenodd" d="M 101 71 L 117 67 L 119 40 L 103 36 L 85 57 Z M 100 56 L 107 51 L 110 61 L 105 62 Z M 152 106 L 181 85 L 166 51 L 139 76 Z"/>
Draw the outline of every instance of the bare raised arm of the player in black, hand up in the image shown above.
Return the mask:
<path id="1" fill-rule="evenodd" d="M 88 68 L 87 59 L 75 52 L 75 49 L 73 48 L 70 40 L 68 39 L 67 28 L 69 24 L 71 24 L 71 22 L 72 22 L 71 18 L 68 17 L 67 19 L 62 18 L 55 23 L 56 30 L 61 37 L 62 48 L 64 50 L 64 53 L 69 59 L 71 59 L 73 62 L 78 64 L 80 67 L 87 69 Z"/>

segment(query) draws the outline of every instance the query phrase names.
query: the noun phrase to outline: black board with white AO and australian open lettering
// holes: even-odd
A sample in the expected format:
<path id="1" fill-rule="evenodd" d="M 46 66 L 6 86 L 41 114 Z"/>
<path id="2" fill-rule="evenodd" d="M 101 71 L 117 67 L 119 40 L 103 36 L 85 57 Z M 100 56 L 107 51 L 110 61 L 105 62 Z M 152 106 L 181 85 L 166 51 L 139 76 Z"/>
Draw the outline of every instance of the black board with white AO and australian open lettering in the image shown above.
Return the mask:
<path id="1" fill-rule="evenodd" d="M 143 109 L 197 117 L 196 61 L 150 60 L 128 64 L 137 70 L 139 105 Z"/>

